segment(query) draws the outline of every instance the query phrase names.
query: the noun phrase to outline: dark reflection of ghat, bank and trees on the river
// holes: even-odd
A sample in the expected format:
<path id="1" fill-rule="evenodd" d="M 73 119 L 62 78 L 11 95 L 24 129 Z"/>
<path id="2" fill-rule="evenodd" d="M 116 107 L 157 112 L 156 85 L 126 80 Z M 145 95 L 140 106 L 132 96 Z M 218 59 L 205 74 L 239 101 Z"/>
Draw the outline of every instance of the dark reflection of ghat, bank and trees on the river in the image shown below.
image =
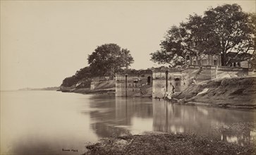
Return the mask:
<path id="1" fill-rule="evenodd" d="M 101 98 L 101 97 L 99 97 Z M 140 98 L 94 99 L 91 128 L 99 137 L 130 132 L 192 132 L 240 145 L 255 142 L 255 111 L 183 106 Z M 250 125 L 250 128 L 246 128 Z"/>

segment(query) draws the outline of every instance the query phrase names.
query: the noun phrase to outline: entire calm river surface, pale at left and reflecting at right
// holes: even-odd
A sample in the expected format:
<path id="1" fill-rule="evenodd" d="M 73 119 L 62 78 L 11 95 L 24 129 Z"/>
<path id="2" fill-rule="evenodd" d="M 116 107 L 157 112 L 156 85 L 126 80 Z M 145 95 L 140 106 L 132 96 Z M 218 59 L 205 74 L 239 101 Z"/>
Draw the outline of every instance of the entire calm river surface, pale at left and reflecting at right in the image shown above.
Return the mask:
<path id="1" fill-rule="evenodd" d="M 1 92 L 1 154 L 83 154 L 102 137 L 192 132 L 248 144 L 255 111 L 54 91 Z M 234 129 L 230 129 L 234 127 Z"/>

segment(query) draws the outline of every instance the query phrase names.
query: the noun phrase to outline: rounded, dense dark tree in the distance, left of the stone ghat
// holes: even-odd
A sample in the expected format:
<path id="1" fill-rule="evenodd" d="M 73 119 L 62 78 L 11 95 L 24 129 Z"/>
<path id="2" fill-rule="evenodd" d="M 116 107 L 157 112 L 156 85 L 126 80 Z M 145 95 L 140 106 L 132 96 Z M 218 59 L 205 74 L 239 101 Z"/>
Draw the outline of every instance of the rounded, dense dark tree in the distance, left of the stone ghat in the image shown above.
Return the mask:
<path id="1" fill-rule="evenodd" d="M 133 63 L 133 57 L 128 49 L 121 49 L 117 44 L 103 44 L 97 46 L 95 51 L 88 56 L 88 63 L 92 75 L 114 77 L 116 70 L 128 68 Z"/>

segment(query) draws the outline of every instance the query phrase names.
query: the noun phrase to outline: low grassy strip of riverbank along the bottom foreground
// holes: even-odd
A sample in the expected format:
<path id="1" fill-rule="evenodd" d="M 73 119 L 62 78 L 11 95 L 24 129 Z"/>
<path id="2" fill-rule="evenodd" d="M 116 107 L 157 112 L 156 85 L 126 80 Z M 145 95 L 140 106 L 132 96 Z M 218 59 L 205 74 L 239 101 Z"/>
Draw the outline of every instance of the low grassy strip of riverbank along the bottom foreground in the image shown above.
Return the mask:
<path id="1" fill-rule="evenodd" d="M 106 138 L 88 145 L 85 155 L 92 154 L 256 154 L 254 145 L 240 146 L 188 133 L 151 132 Z"/>

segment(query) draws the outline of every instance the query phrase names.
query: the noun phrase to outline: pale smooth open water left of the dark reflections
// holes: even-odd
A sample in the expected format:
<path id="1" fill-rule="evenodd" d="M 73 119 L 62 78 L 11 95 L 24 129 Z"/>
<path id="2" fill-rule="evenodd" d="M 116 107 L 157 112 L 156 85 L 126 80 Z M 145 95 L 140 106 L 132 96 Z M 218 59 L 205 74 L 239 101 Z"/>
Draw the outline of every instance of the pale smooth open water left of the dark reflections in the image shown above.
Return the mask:
<path id="1" fill-rule="evenodd" d="M 80 113 L 89 109 L 88 98 L 51 91 L 1 92 L 0 154 L 83 154 L 86 142 L 97 141 L 88 115 Z"/>

